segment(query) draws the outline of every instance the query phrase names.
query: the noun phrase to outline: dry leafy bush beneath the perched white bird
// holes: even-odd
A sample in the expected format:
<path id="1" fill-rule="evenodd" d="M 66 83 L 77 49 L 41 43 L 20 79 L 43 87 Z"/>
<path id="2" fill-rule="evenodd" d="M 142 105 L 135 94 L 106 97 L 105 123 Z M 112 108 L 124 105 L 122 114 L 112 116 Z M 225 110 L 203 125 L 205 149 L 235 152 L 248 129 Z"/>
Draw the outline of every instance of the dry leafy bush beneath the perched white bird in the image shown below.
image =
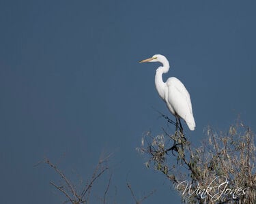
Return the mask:
<path id="1" fill-rule="evenodd" d="M 227 132 L 217 133 L 208 126 L 205 136 L 208 139 L 193 148 L 182 130 L 171 135 L 164 130 L 156 137 L 147 132 L 138 150 L 148 156 L 148 168 L 160 171 L 173 183 L 183 203 L 255 203 L 251 129 L 242 122 L 231 125 Z"/>

